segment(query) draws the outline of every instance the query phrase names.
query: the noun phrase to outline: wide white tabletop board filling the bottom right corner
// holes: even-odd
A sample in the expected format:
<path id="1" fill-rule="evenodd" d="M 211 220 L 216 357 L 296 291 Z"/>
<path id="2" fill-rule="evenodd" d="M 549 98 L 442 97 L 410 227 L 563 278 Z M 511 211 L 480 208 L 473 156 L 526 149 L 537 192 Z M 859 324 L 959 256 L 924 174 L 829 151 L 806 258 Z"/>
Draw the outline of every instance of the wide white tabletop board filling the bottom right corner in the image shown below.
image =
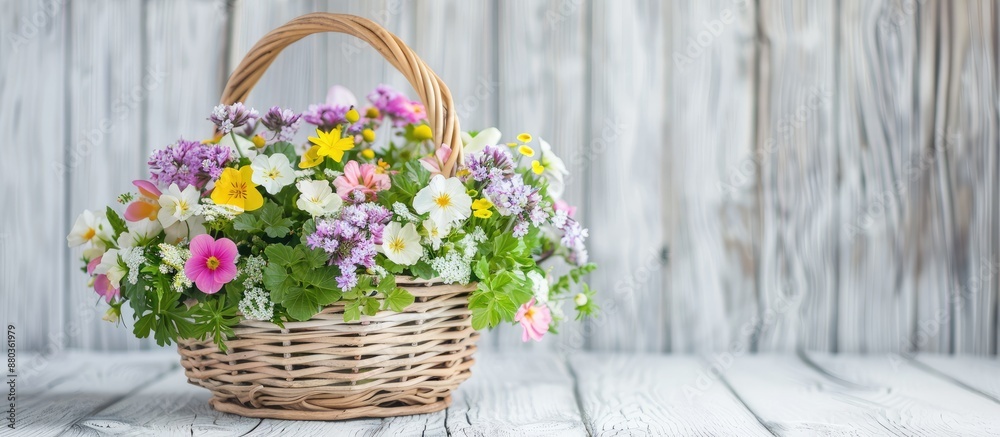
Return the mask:
<path id="1" fill-rule="evenodd" d="M 776 435 L 990 435 L 1000 404 L 891 356 L 758 355 L 723 378 Z"/>

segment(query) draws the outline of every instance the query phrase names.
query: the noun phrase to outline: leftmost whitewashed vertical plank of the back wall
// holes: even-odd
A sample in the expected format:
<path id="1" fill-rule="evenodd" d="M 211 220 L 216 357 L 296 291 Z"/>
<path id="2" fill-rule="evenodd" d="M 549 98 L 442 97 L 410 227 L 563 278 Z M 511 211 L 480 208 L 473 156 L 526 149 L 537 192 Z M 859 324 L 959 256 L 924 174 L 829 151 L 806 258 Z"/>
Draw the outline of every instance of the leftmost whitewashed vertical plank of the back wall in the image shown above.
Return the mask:
<path id="1" fill-rule="evenodd" d="M 65 203 L 71 136 L 66 132 L 70 113 L 63 67 L 70 23 L 58 5 L 8 1 L 3 10 L 0 129 L 8 144 L 7 156 L 0 160 L 0 202 L 5 205 L 0 215 L 0 313 L 5 324 L 16 327 L 21 350 L 61 349 L 68 312 L 62 302 L 72 274 L 61 230 L 75 219 Z M 40 133 L 47 136 L 44 141 Z M 36 164 L 37 171 L 25 172 L 28 163 Z M 29 186 L 46 193 L 44 200 L 14 188 Z M 36 316 L 44 311 L 50 311 L 48 317 Z"/>

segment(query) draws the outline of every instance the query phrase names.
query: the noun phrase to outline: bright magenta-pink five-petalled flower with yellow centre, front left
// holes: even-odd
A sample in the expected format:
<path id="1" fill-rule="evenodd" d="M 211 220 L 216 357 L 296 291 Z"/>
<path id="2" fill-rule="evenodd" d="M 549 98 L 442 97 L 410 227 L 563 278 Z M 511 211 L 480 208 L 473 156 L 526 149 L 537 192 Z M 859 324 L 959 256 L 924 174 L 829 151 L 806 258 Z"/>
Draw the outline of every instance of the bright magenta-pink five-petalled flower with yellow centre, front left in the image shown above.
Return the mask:
<path id="1" fill-rule="evenodd" d="M 184 264 L 184 274 L 206 294 L 215 294 L 236 277 L 236 243 L 201 234 L 191 240 L 191 258 Z"/>

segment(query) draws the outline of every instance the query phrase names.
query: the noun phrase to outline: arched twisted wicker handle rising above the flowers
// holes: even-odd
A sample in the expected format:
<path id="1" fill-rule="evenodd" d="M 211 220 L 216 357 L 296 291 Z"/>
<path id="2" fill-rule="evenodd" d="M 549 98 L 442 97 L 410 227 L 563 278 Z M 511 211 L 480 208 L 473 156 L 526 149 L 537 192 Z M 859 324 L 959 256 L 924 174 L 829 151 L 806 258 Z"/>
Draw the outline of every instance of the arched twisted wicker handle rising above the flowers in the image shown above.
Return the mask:
<path id="1" fill-rule="evenodd" d="M 448 86 L 416 53 L 396 35 L 375 22 L 354 15 L 314 12 L 295 18 L 264 35 L 247 52 L 226 82 L 222 103 L 245 101 L 250 90 L 264 75 L 281 51 L 290 44 L 314 33 L 337 32 L 355 36 L 378 50 L 393 67 L 396 67 L 416 90 L 427 110 L 427 121 L 434 135 L 436 147 L 451 146 L 451 156 L 444 163 L 442 173 L 455 174 L 462 162 L 462 136 L 455 116 L 454 102 Z"/>

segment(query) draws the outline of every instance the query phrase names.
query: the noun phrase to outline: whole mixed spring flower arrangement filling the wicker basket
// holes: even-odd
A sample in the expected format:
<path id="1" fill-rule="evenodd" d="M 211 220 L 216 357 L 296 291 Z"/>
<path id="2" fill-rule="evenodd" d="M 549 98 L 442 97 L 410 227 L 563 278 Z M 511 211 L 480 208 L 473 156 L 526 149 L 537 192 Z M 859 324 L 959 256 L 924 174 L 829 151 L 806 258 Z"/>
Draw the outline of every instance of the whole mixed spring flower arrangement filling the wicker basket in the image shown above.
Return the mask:
<path id="1" fill-rule="evenodd" d="M 414 297 L 395 275 L 476 282 L 473 327 L 520 324 L 524 341 L 555 332 L 564 303 L 595 313 L 587 229 L 560 200 L 567 171 L 548 143 L 463 134 L 464 164 L 445 174 L 452 151 L 432 144 L 421 103 L 387 86 L 367 98 L 334 87 L 301 114 L 220 105 L 214 138 L 150 156 L 123 213 L 84 211 L 67 241 L 83 246 L 105 319 L 127 304 L 140 338 L 225 350 L 243 319 L 280 326 L 335 302 L 345 321 L 402 311 Z M 313 135 L 296 145 L 304 125 Z"/>

